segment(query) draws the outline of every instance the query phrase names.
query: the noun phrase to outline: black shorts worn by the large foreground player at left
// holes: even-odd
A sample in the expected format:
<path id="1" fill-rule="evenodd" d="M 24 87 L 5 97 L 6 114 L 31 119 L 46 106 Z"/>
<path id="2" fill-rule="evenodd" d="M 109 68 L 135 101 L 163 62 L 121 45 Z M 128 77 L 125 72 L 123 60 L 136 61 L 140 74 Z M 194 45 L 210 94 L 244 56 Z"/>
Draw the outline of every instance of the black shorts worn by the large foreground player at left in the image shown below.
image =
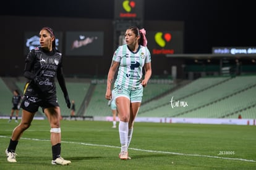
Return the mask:
<path id="1" fill-rule="evenodd" d="M 38 108 L 41 107 L 43 110 L 50 107 L 59 107 L 59 103 L 56 95 L 48 97 L 47 99 L 40 99 L 38 97 L 24 95 L 22 103 L 20 105 L 23 110 L 35 113 Z"/>

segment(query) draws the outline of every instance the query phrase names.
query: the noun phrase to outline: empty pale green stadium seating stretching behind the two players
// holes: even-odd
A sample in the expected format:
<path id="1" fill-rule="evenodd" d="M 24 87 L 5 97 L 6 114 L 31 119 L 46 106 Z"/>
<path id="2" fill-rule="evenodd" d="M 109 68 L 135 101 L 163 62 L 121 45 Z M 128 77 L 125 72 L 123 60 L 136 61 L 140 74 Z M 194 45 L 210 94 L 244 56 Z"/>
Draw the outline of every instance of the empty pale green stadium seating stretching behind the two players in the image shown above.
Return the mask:
<path id="1" fill-rule="evenodd" d="M 25 81 L 15 86 L 23 91 Z M 75 100 L 76 114 L 85 116 L 111 116 L 105 99 L 106 83 L 67 79 L 70 100 Z M 0 79 L 1 116 L 8 116 L 12 103 L 12 91 Z M 178 83 L 149 83 L 143 92 L 138 117 L 176 118 L 256 118 L 256 76 L 223 76 L 198 78 L 184 85 Z M 62 116 L 69 116 L 59 84 L 58 102 Z M 9 99 L 9 100 L 7 100 Z"/>

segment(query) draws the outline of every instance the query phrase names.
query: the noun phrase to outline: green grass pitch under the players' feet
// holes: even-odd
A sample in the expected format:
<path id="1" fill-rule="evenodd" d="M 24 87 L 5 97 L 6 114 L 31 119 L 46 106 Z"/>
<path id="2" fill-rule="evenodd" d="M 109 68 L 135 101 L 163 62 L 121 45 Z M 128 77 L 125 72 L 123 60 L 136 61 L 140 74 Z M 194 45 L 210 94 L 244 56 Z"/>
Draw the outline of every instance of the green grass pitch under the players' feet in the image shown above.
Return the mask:
<path id="1" fill-rule="evenodd" d="M 0 169 L 255 169 L 256 126 L 136 123 L 132 160 L 119 160 L 118 126 L 107 121 L 61 121 L 61 156 L 69 166 L 51 164 L 48 120 L 33 120 L 16 149 L 5 150 L 17 124 L 0 119 Z"/>

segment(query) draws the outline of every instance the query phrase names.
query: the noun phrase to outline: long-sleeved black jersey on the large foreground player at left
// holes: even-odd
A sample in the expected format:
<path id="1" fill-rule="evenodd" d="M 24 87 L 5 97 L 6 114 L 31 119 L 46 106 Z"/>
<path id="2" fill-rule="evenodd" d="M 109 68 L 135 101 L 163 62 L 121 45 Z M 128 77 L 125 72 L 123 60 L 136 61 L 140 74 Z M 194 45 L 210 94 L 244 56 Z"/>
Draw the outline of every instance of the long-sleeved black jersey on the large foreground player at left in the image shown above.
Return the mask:
<path id="1" fill-rule="evenodd" d="M 64 95 L 67 94 L 66 84 L 62 73 L 62 55 L 55 49 L 51 52 L 36 47 L 25 59 L 25 78 L 30 79 L 25 95 L 34 97 L 51 97 L 56 95 L 55 78 Z"/>

